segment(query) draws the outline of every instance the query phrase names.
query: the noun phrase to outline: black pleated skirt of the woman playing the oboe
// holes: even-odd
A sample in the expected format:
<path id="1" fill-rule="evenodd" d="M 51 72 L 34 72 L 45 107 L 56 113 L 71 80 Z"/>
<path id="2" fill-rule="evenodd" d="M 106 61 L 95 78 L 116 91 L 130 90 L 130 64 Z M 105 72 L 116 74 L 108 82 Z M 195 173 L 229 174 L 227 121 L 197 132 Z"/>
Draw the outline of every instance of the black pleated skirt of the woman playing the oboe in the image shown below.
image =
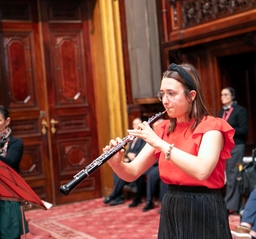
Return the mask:
<path id="1" fill-rule="evenodd" d="M 159 239 L 232 239 L 220 190 L 169 185 L 162 201 Z"/>

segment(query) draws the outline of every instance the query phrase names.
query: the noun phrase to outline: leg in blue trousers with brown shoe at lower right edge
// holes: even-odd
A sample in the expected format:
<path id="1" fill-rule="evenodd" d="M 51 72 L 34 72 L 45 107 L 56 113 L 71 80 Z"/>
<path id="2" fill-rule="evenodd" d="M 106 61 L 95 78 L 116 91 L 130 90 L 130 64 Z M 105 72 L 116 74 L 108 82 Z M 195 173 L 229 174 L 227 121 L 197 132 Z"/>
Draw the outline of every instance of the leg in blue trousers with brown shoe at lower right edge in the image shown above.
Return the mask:
<path id="1" fill-rule="evenodd" d="M 251 192 L 240 225 L 231 231 L 233 239 L 256 239 L 256 188 Z"/>

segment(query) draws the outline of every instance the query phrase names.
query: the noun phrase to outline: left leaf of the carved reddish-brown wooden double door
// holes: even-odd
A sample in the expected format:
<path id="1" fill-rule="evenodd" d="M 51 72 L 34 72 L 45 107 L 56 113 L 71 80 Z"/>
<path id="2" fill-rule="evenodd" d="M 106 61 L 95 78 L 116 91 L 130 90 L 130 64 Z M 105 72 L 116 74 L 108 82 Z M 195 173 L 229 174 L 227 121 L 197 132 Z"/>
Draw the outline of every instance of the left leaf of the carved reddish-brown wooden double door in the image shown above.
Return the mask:
<path id="1" fill-rule="evenodd" d="M 13 135 L 24 142 L 20 174 L 41 199 L 53 202 L 36 1 L 0 1 L 0 12 L 1 104 L 10 111 Z"/>

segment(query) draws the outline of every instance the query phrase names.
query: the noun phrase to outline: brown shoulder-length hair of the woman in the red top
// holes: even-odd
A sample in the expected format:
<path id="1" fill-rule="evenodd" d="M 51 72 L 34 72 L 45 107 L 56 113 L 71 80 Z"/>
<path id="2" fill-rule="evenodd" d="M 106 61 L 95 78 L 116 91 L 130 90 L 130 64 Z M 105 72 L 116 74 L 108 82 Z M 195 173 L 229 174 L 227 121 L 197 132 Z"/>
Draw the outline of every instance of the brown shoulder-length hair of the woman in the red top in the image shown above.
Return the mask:
<path id="1" fill-rule="evenodd" d="M 198 70 L 189 63 L 182 63 L 178 65 L 178 67 L 182 67 L 184 70 L 186 70 L 190 76 L 192 77 L 194 84 L 195 84 L 195 91 L 196 91 L 196 97 L 194 100 L 191 99 L 190 86 L 186 83 L 186 81 L 179 75 L 177 71 L 166 71 L 163 74 L 163 78 L 173 78 L 180 82 L 184 87 L 184 94 L 185 96 L 190 100 L 191 105 L 188 108 L 186 117 L 188 120 L 195 119 L 195 122 L 193 125 L 191 125 L 191 130 L 193 131 L 197 125 L 201 122 L 204 116 L 209 115 L 209 111 L 205 105 L 204 101 L 204 95 L 202 91 L 202 84 L 201 84 L 201 78 L 199 75 Z M 170 128 L 168 133 L 174 131 L 176 127 L 176 119 L 170 118 Z"/>

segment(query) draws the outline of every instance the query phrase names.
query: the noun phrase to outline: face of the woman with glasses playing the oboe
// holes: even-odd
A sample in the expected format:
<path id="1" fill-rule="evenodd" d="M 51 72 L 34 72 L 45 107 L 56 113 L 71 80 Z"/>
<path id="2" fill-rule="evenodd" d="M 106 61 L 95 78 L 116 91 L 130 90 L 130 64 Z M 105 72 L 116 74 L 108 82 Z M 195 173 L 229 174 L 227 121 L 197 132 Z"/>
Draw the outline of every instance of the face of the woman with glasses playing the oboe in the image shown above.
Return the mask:
<path id="1" fill-rule="evenodd" d="M 160 92 L 162 93 L 162 103 L 167 110 L 168 116 L 176 118 L 178 122 L 187 121 L 186 113 L 189 110 L 190 102 L 184 93 L 182 84 L 173 78 L 163 78 Z M 196 92 L 193 91 L 192 100 L 195 94 Z"/>

